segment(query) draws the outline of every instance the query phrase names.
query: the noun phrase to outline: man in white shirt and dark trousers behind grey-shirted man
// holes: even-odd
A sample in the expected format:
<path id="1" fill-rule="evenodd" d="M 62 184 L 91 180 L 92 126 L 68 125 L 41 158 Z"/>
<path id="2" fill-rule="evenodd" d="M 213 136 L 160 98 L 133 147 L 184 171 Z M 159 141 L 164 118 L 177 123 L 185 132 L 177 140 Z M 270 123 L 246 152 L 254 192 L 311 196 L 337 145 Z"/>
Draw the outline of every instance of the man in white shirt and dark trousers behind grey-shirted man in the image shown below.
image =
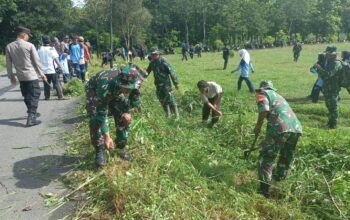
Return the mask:
<path id="1" fill-rule="evenodd" d="M 58 60 L 58 53 L 54 47 L 50 46 L 50 36 L 44 35 L 42 37 L 43 46 L 38 50 L 38 54 L 40 57 L 41 64 L 43 66 L 43 70 L 45 72 L 47 81 L 44 81 L 44 95 L 45 100 L 50 99 L 50 84 L 52 82 L 54 88 L 57 91 L 59 100 L 66 100 L 62 94 L 61 84 L 59 82 L 58 74 L 56 74 L 55 66 L 60 70 L 60 73 L 64 75 L 62 67 Z"/>

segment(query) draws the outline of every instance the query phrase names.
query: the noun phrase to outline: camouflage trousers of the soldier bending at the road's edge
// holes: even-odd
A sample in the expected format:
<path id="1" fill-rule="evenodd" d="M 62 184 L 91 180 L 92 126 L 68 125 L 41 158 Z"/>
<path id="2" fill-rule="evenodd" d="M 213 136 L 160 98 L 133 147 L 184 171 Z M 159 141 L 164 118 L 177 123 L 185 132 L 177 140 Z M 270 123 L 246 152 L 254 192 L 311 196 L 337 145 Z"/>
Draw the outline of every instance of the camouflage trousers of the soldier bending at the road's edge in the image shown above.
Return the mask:
<path id="1" fill-rule="evenodd" d="M 90 139 L 91 143 L 95 148 L 104 146 L 104 138 L 102 135 L 102 128 L 108 127 L 108 124 L 97 120 L 97 97 L 96 92 L 93 89 L 86 91 L 86 111 L 90 117 L 89 128 L 90 128 Z M 121 123 L 121 115 L 126 112 L 127 102 L 125 100 L 113 100 L 109 102 L 109 113 L 114 118 L 114 124 L 116 129 L 115 144 L 118 148 L 123 149 L 128 141 L 129 126 L 124 126 Z"/>

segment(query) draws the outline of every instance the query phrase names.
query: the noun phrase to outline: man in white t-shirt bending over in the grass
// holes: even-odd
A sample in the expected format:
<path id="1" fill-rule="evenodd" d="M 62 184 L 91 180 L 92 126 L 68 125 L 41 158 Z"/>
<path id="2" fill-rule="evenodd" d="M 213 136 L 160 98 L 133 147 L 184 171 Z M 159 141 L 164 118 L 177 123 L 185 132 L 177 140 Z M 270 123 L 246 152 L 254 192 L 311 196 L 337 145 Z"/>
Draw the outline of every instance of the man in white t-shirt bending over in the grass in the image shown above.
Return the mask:
<path id="1" fill-rule="evenodd" d="M 204 80 L 200 80 L 197 83 L 197 87 L 201 92 L 203 101 L 202 120 L 206 123 L 210 112 L 212 112 L 209 127 L 213 127 L 213 125 L 219 121 L 219 117 L 222 116 L 222 112 L 220 111 L 222 88 L 215 82 L 206 82 Z"/>

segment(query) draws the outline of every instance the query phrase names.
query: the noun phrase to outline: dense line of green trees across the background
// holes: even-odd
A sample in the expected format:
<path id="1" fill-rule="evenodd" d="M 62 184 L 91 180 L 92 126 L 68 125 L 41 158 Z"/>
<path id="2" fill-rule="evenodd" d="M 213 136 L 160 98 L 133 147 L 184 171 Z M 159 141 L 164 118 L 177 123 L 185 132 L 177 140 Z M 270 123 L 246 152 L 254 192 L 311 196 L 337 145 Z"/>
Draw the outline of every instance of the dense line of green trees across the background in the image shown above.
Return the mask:
<path id="1" fill-rule="evenodd" d="M 1 0 L 0 52 L 20 24 L 37 44 L 44 33 L 79 34 L 99 50 L 332 42 L 350 38 L 350 0 Z"/>

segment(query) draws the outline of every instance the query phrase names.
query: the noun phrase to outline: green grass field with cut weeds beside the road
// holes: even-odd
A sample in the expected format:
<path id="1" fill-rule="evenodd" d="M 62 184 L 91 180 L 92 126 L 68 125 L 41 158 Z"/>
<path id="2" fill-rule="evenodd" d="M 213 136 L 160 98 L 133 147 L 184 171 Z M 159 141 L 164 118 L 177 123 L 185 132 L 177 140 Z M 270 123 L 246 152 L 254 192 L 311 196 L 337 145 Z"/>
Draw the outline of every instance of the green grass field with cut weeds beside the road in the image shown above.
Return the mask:
<path id="1" fill-rule="evenodd" d="M 337 46 L 338 51 L 350 47 Z M 322 98 L 317 104 L 304 98 L 316 80 L 309 68 L 325 47 L 305 45 L 298 63 L 292 61 L 291 47 L 250 51 L 256 69 L 251 75 L 254 86 L 261 80 L 272 80 L 303 125 L 290 175 L 285 181 L 272 183 L 271 199 L 256 193 L 258 152 L 252 153 L 249 161 L 242 159 L 243 149 L 254 138 L 257 108 L 255 96 L 244 82 L 237 92 L 239 74 L 230 74 L 239 61 L 238 54 L 230 58 L 226 71 L 222 70 L 221 53 L 204 53 L 202 58 L 187 62 L 172 55 L 167 58 L 181 83 L 181 89 L 175 91 L 181 120 L 165 118 L 151 75 L 142 86 L 145 112 L 133 114 L 128 146 L 131 163 L 111 152 L 109 164 L 96 170 L 87 120 L 76 124 L 75 132 L 67 137 L 67 154 L 81 159 L 63 181 L 72 189 L 89 183 L 83 187 L 74 218 L 350 218 L 349 95 L 344 89 L 341 92 L 337 130 L 326 129 L 327 110 Z M 142 67 L 148 64 L 137 63 Z M 94 67 L 90 72 L 97 70 Z M 224 115 L 213 129 L 201 123 L 196 88 L 201 79 L 216 81 L 224 91 Z M 91 178 L 95 179 L 90 182 Z"/>

